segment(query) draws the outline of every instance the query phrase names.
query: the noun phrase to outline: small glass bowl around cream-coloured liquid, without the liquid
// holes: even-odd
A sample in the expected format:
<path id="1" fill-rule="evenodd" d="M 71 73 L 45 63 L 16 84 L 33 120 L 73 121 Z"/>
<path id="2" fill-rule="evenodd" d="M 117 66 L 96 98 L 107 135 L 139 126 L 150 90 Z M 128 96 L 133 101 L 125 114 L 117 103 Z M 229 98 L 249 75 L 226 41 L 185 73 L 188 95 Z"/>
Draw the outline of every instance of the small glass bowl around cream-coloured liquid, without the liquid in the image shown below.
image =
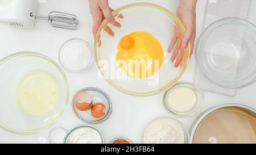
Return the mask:
<path id="1" fill-rule="evenodd" d="M 196 103 L 195 106 L 193 106 L 190 110 L 180 112 L 180 111 L 175 111 L 171 107 L 168 107 L 168 101 L 167 101 L 167 95 L 170 91 L 176 89 L 177 87 L 187 87 L 188 89 L 191 89 L 195 94 L 196 94 Z M 189 116 L 197 114 L 197 112 L 200 111 L 201 107 L 204 104 L 204 93 L 203 91 L 196 86 L 192 82 L 178 82 L 176 85 L 171 87 L 169 90 L 166 91 L 163 95 L 163 106 L 164 108 L 171 114 L 174 115 L 178 118 L 188 118 Z"/>

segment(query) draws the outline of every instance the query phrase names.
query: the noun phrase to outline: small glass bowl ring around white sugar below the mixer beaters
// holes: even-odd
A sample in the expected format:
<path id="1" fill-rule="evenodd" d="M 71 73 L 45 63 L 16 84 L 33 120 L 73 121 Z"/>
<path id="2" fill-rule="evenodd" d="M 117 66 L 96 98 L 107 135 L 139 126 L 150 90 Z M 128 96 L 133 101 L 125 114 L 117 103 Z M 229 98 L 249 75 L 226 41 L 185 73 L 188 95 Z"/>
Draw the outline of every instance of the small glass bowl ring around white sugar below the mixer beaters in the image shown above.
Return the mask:
<path id="1" fill-rule="evenodd" d="M 69 44 L 72 44 L 72 43 L 82 43 L 84 44 L 89 50 L 90 50 L 90 61 L 88 63 L 88 65 L 85 66 L 85 68 L 82 68 L 82 69 L 79 69 L 79 70 L 74 70 L 72 68 L 70 68 L 65 62 L 64 62 L 64 57 L 63 57 L 63 50 L 64 48 L 69 45 Z M 59 52 L 59 61 L 60 61 L 60 64 L 66 69 L 68 70 L 69 72 L 72 72 L 72 73 L 80 73 L 80 72 L 84 72 L 86 69 L 88 69 L 90 67 L 90 65 L 92 65 L 92 62 L 93 62 L 93 49 L 92 47 L 90 46 L 89 43 L 87 43 L 87 41 L 85 40 L 82 40 L 82 39 L 79 39 L 79 38 L 72 38 L 72 39 L 69 39 L 67 41 L 65 41 L 65 43 L 61 46 L 60 48 L 60 52 Z"/>

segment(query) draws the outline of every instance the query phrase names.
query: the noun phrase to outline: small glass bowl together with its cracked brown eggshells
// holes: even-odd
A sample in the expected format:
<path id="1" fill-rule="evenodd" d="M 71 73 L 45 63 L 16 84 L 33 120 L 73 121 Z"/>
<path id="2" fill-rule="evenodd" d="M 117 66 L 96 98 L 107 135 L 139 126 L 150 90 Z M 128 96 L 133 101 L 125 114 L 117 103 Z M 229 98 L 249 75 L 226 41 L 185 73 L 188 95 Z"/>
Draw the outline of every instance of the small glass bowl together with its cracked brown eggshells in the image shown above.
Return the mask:
<path id="1" fill-rule="evenodd" d="M 100 124 L 112 114 L 109 95 L 96 87 L 79 90 L 72 100 L 74 114 L 85 123 Z"/>

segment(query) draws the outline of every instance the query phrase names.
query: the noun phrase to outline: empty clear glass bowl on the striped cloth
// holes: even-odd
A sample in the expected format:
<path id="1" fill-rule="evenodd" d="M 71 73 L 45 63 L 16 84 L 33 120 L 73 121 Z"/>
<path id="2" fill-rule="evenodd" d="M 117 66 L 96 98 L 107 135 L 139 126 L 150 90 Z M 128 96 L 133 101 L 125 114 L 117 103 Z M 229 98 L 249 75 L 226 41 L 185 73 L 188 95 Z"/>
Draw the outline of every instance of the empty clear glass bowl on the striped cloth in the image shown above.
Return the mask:
<path id="1" fill-rule="evenodd" d="M 195 57 L 204 75 L 217 85 L 240 88 L 256 80 L 256 27 L 246 20 L 217 20 L 201 34 Z"/>

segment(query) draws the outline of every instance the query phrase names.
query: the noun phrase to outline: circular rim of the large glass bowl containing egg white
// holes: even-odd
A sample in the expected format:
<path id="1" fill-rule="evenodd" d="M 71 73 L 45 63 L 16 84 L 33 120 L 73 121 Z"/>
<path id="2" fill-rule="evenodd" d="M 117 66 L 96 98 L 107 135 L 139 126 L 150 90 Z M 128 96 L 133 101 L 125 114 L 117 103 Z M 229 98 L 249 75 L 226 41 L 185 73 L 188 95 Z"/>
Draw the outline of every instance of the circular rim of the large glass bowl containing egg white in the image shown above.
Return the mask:
<path id="1" fill-rule="evenodd" d="M 39 58 L 42 58 L 46 61 L 48 61 L 49 63 L 51 63 L 52 65 L 54 65 L 61 73 L 64 81 L 65 81 L 65 87 L 67 89 L 67 98 L 65 99 L 65 104 L 64 104 L 64 107 L 63 109 L 59 112 L 59 114 L 56 116 L 56 118 L 49 124 L 47 125 L 44 125 L 43 127 L 40 127 L 38 129 L 31 129 L 31 130 L 26 130 L 26 131 L 23 131 L 23 130 L 18 130 L 18 129 L 12 129 L 12 128 L 9 128 L 9 127 L 6 127 L 5 125 L 2 125 L 0 123 L 0 128 L 2 129 L 5 129 L 5 131 L 8 131 L 10 133 L 14 133 L 16 135 L 32 135 L 32 134 L 35 134 L 35 133 L 38 133 L 40 131 L 42 131 L 43 129 L 46 129 L 48 127 L 51 127 L 53 124 L 55 124 L 57 122 L 57 120 L 60 118 L 60 116 L 63 114 L 65 108 L 67 107 L 67 104 L 68 104 L 68 99 L 69 99 L 69 86 L 68 86 L 68 81 L 67 81 L 67 77 L 65 76 L 65 73 L 63 71 L 63 69 L 60 68 L 60 66 L 58 66 L 56 64 L 56 62 L 54 62 L 51 58 L 41 54 L 41 53 L 38 53 L 38 52 L 16 52 L 16 53 L 13 53 L 9 56 L 6 56 L 5 58 L 2 58 L 2 60 L 0 60 L 0 68 L 5 65 L 8 61 L 12 60 L 13 58 L 16 58 L 16 57 L 23 57 L 23 56 L 33 56 L 33 57 L 39 57 Z"/>

